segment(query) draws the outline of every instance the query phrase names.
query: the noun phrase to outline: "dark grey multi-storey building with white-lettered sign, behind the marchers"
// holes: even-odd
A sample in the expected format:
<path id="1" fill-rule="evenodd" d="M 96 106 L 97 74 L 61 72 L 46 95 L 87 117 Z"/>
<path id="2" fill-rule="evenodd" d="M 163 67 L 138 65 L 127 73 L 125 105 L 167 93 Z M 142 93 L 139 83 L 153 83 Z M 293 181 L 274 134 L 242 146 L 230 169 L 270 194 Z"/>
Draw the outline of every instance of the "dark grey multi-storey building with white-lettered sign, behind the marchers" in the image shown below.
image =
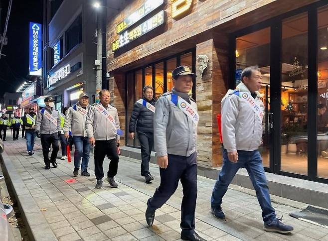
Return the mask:
<path id="1" fill-rule="evenodd" d="M 44 0 L 44 95 L 59 111 L 96 92 L 96 11 L 88 0 Z"/>

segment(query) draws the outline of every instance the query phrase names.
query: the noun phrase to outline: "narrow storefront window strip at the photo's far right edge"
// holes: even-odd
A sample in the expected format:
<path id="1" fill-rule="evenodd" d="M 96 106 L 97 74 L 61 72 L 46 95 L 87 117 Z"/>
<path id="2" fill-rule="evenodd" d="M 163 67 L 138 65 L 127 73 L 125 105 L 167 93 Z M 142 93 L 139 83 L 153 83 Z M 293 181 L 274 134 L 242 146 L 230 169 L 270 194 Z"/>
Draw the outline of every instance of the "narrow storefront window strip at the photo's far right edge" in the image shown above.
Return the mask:
<path id="1" fill-rule="evenodd" d="M 328 6 L 318 10 L 318 176 L 328 178 Z"/>

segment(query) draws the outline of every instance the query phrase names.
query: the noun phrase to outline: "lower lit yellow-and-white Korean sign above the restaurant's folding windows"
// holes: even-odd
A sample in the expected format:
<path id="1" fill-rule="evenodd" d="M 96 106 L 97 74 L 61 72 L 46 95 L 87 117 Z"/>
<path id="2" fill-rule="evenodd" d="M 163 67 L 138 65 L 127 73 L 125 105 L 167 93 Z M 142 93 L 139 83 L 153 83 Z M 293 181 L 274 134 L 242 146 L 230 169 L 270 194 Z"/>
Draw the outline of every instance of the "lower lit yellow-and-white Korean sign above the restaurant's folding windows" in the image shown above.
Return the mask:
<path id="1" fill-rule="evenodd" d="M 126 30 L 120 34 L 119 39 L 112 43 L 112 50 L 118 50 L 119 48 L 127 45 L 131 41 L 141 37 L 142 35 L 150 32 L 154 28 L 162 25 L 164 23 L 164 10 L 160 11 L 152 18 L 143 22 L 139 26 L 133 28 L 132 30 Z"/>

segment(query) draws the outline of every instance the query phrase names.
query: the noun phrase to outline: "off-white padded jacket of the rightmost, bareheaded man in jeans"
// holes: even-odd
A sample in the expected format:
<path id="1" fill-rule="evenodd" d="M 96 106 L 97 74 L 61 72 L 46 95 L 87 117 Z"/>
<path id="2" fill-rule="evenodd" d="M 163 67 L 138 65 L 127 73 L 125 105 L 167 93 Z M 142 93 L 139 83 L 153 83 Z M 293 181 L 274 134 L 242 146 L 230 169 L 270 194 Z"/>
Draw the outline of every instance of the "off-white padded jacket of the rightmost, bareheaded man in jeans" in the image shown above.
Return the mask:
<path id="1" fill-rule="evenodd" d="M 240 83 L 237 91 L 248 92 Z M 256 92 L 255 103 L 264 111 L 261 94 Z M 221 126 L 223 146 L 228 152 L 236 150 L 254 151 L 262 144 L 262 121 L 239 95 L 229 90 L 221 101 Z"/>

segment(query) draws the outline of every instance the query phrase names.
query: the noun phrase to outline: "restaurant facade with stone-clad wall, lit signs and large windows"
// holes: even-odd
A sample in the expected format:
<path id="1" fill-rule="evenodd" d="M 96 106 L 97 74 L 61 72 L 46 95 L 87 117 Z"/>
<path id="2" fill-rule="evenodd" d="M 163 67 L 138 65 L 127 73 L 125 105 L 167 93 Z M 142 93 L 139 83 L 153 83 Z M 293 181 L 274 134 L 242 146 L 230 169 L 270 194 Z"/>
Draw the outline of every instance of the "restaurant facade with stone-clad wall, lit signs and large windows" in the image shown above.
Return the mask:
<path id="1" fill-rule="evenodd" d="M 109 86 L 123 129 L 143 86 L 159 97 L 172 87 L 170 72 L 187 65 L 197 74 L 198 164 L 220 166 L 221 100 L 245 67 L 258 65 L 266 171 L 328 183 L 327 107 L 318 112 L 328 104 L 327 1 L 130 0 L 108 21 L 107 37 Z M 138 148 L 127 134 L 126 145 Z"/>

